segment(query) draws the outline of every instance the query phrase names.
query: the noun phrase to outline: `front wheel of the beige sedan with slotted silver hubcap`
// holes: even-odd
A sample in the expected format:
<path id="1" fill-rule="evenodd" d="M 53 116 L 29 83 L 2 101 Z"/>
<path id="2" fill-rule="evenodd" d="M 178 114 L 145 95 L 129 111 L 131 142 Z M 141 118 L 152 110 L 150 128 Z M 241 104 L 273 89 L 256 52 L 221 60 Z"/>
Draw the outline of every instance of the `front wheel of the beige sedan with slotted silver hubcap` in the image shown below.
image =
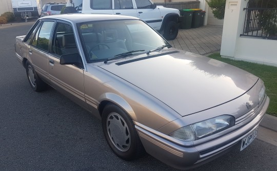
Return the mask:
<path id="1" fill-rule="evenodd" d="M 117 105 L 105 106 L 102 115 L 105 138 L 112 151 L 124 160 L 133 160 L 145 152 L 131 118 Z"/>

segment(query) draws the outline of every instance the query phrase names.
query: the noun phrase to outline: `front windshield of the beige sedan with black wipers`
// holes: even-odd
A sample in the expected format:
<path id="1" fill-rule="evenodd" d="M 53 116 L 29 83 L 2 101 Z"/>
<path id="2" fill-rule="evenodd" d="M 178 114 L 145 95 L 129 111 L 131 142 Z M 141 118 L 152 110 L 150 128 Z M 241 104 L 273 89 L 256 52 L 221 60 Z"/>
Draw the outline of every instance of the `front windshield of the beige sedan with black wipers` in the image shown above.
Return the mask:
<path id="1" fill-rule="evenodd" d="M 87 22 L 80 24 L 79 29 L 89 63 L 129 57 L 168 45 L 141 20 Z"/>

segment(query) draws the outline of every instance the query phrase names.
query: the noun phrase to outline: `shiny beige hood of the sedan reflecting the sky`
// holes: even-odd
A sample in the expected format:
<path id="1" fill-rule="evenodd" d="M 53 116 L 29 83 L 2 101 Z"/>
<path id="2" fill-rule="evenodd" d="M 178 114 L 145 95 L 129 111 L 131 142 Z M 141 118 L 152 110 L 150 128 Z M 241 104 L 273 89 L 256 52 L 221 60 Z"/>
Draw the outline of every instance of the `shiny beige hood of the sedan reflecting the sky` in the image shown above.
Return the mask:
<path id="1" fill-rule="evenodd" d="M 233 100 L 259 79 L 227 63 L 176 49 L 98 67 L 161 100 L 181 116 Z"/>

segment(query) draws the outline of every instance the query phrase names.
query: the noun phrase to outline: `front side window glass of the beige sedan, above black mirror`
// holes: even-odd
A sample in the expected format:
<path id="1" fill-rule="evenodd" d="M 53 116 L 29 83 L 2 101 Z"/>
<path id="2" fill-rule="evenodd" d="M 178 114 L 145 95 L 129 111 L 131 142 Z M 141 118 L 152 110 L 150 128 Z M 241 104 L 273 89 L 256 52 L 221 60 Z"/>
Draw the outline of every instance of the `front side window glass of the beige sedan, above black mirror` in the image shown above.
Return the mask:
<path id="1" fill-rule="evenodd" d="M 71 25 L 57 23 L 54 33 L 52 53 L 56 54 L 58 58 L 60 58 L 61 55 L 78 53 Z"/>

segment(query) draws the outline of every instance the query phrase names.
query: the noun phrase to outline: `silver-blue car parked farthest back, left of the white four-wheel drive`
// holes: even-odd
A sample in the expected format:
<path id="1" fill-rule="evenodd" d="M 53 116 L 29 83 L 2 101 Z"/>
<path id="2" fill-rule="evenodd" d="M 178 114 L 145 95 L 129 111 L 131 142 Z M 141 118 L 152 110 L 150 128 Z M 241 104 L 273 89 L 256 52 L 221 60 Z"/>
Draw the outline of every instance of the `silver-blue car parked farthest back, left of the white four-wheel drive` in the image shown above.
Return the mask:
<path id="1" fill-rule="evenodd" d="M 42 8 L 41 17 L 47 15 L 61 14 L 62 9 L 66 6 L 66 3 L 48 3 Z"/>

